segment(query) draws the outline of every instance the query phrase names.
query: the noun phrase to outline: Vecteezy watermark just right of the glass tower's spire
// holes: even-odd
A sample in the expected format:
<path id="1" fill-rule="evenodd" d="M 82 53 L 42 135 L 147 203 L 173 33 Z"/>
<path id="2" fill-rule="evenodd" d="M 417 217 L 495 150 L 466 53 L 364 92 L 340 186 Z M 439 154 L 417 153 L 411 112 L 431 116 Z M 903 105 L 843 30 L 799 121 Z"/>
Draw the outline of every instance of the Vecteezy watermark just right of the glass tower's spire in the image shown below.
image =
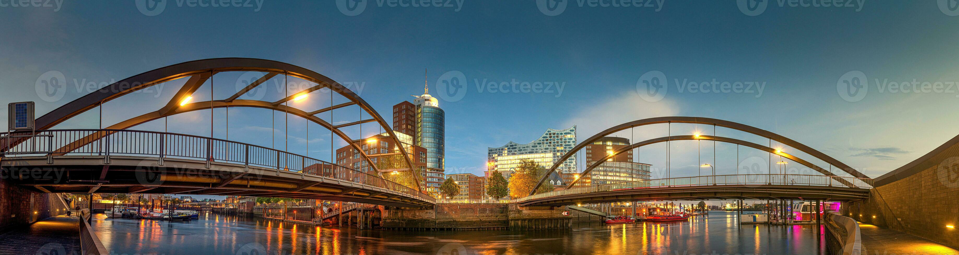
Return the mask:
<path id="1" fill-rule="evenodd" d="M 459 71 L 446 72 L 436 79 L 437 96 L 443 100 L 456 102 L 463 99 L 469 91 L 469 83 L 466 75 Z M 563 89 L 566 88 L 566 81 L 526 81 L 511 78 L 508 81 L 495 81 L 487 78 L 473 79 L 473 85 L 477 93 L 535 93 L 535 94 L 555 94 L 554 97 L 563 95 Z"/>

